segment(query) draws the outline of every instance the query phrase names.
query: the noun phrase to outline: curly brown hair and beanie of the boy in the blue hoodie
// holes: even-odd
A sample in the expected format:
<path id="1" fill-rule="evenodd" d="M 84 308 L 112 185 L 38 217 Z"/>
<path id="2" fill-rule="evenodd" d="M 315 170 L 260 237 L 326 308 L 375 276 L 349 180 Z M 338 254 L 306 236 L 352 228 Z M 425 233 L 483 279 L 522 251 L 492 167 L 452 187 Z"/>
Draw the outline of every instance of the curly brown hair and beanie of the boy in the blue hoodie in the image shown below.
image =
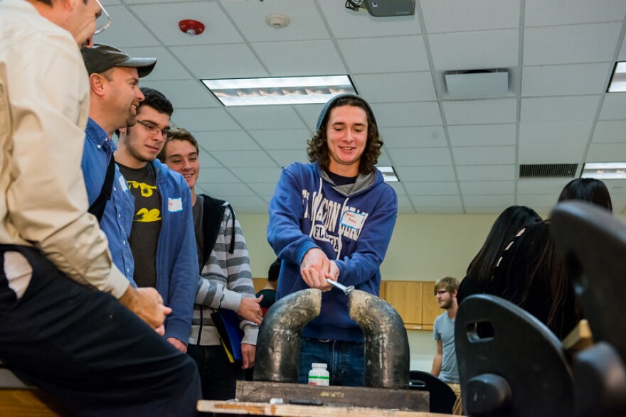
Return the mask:
<path id="1" fill-rule="evenodd" d="M 376 118 L 374 117 L 371 108 L 364 99 L 361 99 L 356 95 L 337 99 L 328 108 L 324 107 L 322 112 L 325 111 L 326 114 L 324 114 L 322 124 L 320 124 L 319 129 L 317 129 L 317 132 L 313 135 L 313 137 L 307 141 L 307 156 L 309 157 L 309 161 L 317 161 L 322 169 L 328 170 L 330 156 L 326 130 L 329 114 L 335 107 L 342 106 L 360 107 L 361 109 L 364 109 L 367 114 L 367 143 L 365 151 L 363 152 L 363 155 L 361 155 L 361 160 L 359 161 L 359 173 L 372 173 L 375 169 L 374 166 L 378 163 L 378 156 L 381 155 L 383 141 L 378 134 L 378 125 L 376 124 Z"/>

